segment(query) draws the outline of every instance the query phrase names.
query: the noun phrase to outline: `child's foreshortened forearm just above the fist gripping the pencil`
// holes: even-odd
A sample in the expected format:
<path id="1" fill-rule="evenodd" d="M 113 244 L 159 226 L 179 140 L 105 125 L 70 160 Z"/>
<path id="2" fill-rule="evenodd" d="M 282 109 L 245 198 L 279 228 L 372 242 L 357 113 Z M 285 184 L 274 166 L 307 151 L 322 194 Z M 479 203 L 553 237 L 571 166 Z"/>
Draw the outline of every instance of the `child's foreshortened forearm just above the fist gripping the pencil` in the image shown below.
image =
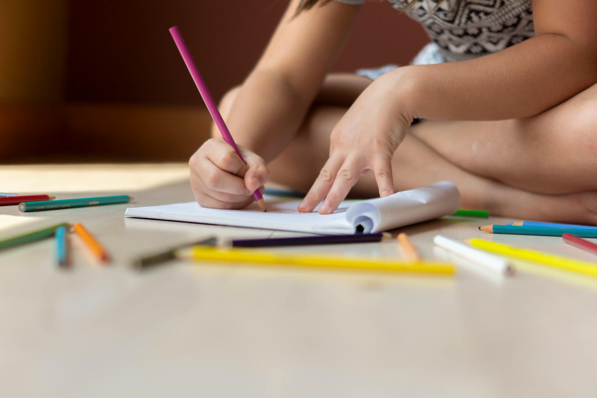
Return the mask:
<path id="1" fill-rule="evenodd" d="M 300 128 L 310 105 L 307 99 L 284 76 L 257 69 L 242 85 L 226 122 L 236 143 L 269 162 Z"/>

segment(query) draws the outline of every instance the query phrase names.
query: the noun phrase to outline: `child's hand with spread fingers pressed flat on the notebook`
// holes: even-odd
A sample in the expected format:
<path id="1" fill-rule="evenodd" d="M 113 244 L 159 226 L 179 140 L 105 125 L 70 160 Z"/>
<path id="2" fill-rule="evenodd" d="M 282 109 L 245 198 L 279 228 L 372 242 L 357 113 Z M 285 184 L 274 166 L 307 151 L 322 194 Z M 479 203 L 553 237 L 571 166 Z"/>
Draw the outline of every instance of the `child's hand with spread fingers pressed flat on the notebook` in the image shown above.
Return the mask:
<path id="1" fill-rule="evenodd" d="M 363 91 L 332 131 L 330 158 L 298 211 L 313 211 L 325 198 L 319 214 L 330 214 L 367 169 L 375 174 L 381 198 L 394 193 L 392 156 L 413 117 L 400 99 L 395 78 L 388 75 Z"/>

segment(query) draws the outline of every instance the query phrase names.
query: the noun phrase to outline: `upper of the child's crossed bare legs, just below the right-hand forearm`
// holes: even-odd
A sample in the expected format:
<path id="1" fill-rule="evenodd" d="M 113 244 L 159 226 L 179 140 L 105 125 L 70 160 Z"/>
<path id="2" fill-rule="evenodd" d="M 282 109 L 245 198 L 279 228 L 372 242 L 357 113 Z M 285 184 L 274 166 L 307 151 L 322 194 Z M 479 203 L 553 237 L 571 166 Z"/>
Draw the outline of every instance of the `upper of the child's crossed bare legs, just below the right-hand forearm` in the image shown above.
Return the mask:
<path id="1" fill-rule="evenodd" d="M 424 122 L 411 132 L 451 163 L 510 186 L 597 189 L 597 85 L 532 118 Z"/>

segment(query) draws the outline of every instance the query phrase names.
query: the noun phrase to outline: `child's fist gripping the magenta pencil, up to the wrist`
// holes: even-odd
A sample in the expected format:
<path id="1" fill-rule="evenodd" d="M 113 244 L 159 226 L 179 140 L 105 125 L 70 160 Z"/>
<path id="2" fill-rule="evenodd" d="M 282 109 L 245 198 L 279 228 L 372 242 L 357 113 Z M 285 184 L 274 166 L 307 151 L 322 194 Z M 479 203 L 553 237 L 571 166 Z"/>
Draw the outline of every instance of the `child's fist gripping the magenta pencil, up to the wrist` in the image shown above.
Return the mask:
<path id="1" fill-rule="evenodd" d="M 269 180 L 263 159 L 238 146 L 247 164 L 221 138 L 211 138 L 190 158 L 190 186 L 199 205 L 242 209 L 254 202 L 253 192 Z"/>

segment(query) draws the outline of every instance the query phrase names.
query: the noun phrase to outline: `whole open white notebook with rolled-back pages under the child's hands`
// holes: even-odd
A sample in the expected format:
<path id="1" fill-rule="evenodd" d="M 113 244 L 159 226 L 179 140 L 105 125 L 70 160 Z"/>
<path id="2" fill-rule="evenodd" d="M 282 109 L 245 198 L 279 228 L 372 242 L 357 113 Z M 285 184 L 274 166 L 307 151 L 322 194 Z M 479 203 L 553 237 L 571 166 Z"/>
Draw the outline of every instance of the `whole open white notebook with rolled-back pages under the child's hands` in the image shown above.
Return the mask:
<path id="1" fill-rule="evenodd" d="M 234 227 L 272 229 L 319 234 L 373 233 L 433 220 L 453 214 L 460 205 L 460 193 L 448 181 L 402 191 L 386 198 L 344 200 L 333 214 L 317 209 L 301 214 L 300 200 L 264 195 L 267 212 L 256 203 L 242 210 L 209 209 L 196 202 L 128 208 L 125 217 L 186 221 Z"/>

